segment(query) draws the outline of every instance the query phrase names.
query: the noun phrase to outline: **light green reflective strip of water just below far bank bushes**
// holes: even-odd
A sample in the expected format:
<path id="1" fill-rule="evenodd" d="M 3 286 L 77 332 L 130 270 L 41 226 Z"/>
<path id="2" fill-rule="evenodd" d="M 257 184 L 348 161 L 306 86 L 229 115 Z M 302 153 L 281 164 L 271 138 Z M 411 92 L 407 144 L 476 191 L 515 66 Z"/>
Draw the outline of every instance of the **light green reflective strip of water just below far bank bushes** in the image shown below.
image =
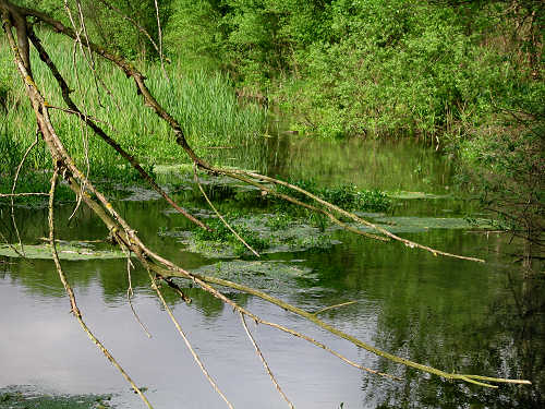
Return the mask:
<path id="1" fill-rule="evenodd" d="M 450 184 L 450 163 L 414 141 L 353 137 L 340 143 L 280 135 L 267 142 L 269 175 L 389 191 L 439 192 Z"/>

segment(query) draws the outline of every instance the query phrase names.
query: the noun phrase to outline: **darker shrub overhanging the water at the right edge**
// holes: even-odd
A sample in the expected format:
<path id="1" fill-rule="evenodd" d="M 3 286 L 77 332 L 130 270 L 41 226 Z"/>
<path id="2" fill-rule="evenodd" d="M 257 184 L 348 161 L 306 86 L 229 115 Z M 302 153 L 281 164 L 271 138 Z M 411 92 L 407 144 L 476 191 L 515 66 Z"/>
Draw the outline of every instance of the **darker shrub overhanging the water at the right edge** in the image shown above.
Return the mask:
<path id="1" fill-rule="evenodd" d="M 545 86 L 535 88 L 543 100 Z M 534 98 L 528 93 L 522 100 L 511 100 L 514 106 L 453 142 L 453 148 L 460 155 L 458 177 L 482 206 L 493 210 L 504 228 L 543 246 L 545 110 Z"/>

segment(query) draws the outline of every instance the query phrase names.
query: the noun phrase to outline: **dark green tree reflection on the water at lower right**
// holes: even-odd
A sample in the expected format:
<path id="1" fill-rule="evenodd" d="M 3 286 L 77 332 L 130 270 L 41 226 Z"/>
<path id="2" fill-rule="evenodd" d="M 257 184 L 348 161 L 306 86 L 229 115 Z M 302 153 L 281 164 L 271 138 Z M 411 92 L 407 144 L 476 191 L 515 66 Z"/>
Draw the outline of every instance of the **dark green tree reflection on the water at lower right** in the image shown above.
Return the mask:
<path id="1" fill-rule="evenodd" d="M 486 253 L 488 263 L 437 260 L 404 246 L 384 251 L 360 238 L 341 238 L 341 246 L 305 254 L 322 288 L 291 297 L 315 308 L 361 299 L 377 305 L 378 348 L 447 372 L 528 378 L 533 385 L 500 385 L 487 389 L 445 382 L 387 360 L 378 369 L 397 374 L 401 383 L 362 375 L 364 407 L 377 408 L 542 408 L 545 407 L 545 301 L 543 276 L 532 278 L 517 265 L 505 265 L 502 252 L 513 251 L 505 237 L 486 239 L 463 231 L 435 230 L 426 242 L 459 253 Z M 420 241 L 424 241 L 420 237 Z M 305 282 L 301 282 L 305 286 Z M 315 292 L 315 291 L 314 291 Z M 331 310 L 328 320 L 356 323 L 362 306 Z M 354 326 L 354 328 L 356 328 Z M 362 363 L 374 359 L 363 353 Z M 371 359 L 370 361 L 366 361 Z"/>

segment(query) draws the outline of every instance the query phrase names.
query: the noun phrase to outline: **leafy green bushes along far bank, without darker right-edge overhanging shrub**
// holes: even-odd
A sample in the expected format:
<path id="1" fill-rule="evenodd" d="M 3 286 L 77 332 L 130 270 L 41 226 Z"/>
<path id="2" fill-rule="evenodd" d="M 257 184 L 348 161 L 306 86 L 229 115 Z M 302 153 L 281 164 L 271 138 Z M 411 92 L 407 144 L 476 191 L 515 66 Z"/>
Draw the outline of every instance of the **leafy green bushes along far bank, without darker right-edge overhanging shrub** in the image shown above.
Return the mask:
<path id="1" fill-rule="evenodd" d="M 523 86 L 524 60 L 540 76 L 540 3 L 178 0 L 167 37 L 172 52 L 268 89 L 298 113 L 294 129 L 437 140 Z"/>

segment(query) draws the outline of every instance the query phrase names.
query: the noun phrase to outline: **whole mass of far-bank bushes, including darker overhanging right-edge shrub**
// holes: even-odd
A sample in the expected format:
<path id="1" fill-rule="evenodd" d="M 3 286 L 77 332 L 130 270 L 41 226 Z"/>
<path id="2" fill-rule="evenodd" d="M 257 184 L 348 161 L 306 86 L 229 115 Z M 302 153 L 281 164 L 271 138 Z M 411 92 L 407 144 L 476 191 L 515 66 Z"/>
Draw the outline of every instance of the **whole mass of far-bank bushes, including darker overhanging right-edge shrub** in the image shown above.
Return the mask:
<path id="1" fill-rule="evenodd" d="M 192 15 L 184 1 L 174 3 L 172 22 Z M 292 113 L 293 129 L 335 137 L 424 137 L 459 159 L 463 185 L 497 212 L 504 227 L 540 237 L 545 3 L 201 3 L 210 16 L 201 28 L 215 40 L 208 55 L 203 47 L 199 52 L 239 87 L 268 93 Z"/>

